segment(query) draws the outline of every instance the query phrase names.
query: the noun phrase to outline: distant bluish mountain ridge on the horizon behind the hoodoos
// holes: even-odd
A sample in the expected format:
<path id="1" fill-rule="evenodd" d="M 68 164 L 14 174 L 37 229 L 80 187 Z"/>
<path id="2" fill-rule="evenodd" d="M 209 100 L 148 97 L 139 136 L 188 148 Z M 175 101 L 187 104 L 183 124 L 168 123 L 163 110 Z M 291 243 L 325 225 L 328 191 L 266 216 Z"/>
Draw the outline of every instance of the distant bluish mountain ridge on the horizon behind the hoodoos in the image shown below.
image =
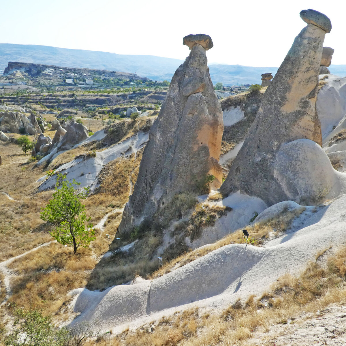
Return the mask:
<path id="1" fill-rule="evenodd" d="M 126 55 L 38 45 L 0 44 L 0 71 L 9 61 L 136 73 L 152 80 L 171 80 L 183 60 L 154 55 Z M 212 82 L 224 85 L 261 83 L 261 74 L 277 67 L 210 65 Z M 331 65 L 331 73 L 346 76 L 346 65 Z"/>

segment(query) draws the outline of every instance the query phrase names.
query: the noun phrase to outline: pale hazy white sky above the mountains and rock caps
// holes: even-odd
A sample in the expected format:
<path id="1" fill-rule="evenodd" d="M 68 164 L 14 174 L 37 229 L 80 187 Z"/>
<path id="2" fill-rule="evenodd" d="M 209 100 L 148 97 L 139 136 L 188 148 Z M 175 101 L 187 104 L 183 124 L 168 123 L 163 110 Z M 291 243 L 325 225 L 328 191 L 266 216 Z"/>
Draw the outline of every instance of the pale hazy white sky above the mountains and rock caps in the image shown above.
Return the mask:
<path id="1" fill-rule="evenodd" d="M 203 33 L 214 42 L 209 63 L 279 66 L 308 8 L 331 19 L 324 46 L 346 64 L 343 0 L 0 0 L 0 43 L 184 59 L 183 37 Z"/>

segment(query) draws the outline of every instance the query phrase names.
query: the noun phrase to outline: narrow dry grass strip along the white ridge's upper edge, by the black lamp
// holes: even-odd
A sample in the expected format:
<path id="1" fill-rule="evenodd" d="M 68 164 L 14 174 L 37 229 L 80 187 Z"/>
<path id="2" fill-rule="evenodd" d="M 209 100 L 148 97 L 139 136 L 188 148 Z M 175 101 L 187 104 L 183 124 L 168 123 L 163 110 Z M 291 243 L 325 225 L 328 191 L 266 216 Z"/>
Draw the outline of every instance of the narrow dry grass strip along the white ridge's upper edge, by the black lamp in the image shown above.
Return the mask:
<path id="1" fill-rule="evenodd" d="M 278 217 L 271 220 L 262 220 L 260 222 L 256 222 L 253 225 L 247 226 L 246 229 L 250 234 L 249 242 L 252 245 L 259 246 L 263 244 L 265 239 L 269 237 L 271 232 L 274 232 L 276 235 L 287 230 L 293 219 L 300 215 L 305 210 L 305 207 L 299 208 L 294 211 L 284 211 Z M 245 239 L 243 237 L 242 229 L 238 229 L 233 233 L 230 233 L 226 237 L 220 239 L 218 242 L 214 244 L 210 244 L 208 246 L 203 247 L 202 249 L 196 249 L 190 252 L 186 252 L 179 257 L 174 258 L 174 260 L 165 263 L 162 267 L 160 267 L 155 273 L 150 276 L 150 279 L 154 279 L 155 277 L 162 276 L 166 273 L 169 273 L 172 268 L 180 268 L 185 264 L 188 264 L 197 258 L 200 258 L 209 252 L 212 252 L 222 246 L 228 244 L 235 243 L 244 243 Z"/>

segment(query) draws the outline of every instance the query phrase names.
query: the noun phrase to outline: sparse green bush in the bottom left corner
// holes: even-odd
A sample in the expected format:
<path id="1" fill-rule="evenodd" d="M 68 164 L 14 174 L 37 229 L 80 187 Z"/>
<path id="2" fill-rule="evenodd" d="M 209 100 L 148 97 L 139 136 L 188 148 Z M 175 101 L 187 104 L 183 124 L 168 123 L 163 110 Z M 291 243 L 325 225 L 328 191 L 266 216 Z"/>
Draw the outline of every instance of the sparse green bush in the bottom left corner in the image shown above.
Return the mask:
<path id="1" fill-rule="evenodd" d="M 42 316 L 41 310 L 17 309 L 14 313 L 13 331 L 4 338 L 6 346 L 60 346 L 64 345 L 67 330 L 56 330 L 52 317 Z"/>

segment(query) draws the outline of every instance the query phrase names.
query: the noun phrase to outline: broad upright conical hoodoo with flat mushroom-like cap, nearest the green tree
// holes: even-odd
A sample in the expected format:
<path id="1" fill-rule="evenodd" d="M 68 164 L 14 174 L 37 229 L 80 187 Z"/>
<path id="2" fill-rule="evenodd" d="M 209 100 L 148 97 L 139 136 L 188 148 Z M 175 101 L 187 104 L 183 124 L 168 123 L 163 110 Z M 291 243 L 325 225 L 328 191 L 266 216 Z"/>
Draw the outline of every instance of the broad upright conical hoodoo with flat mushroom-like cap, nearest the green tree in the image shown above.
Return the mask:
<path id="1" fill-rule="evenodd" d="M 134 192 L 126 204 L 120 233 L 151 218 L 180 192 L 198 191 L 208 174 L 221 185 L 219 164 L 224 131 L 222 110 L 207 66 L 208 35 L 188 35 L 191 52 L 172 78 L 143 152 Z"/>

